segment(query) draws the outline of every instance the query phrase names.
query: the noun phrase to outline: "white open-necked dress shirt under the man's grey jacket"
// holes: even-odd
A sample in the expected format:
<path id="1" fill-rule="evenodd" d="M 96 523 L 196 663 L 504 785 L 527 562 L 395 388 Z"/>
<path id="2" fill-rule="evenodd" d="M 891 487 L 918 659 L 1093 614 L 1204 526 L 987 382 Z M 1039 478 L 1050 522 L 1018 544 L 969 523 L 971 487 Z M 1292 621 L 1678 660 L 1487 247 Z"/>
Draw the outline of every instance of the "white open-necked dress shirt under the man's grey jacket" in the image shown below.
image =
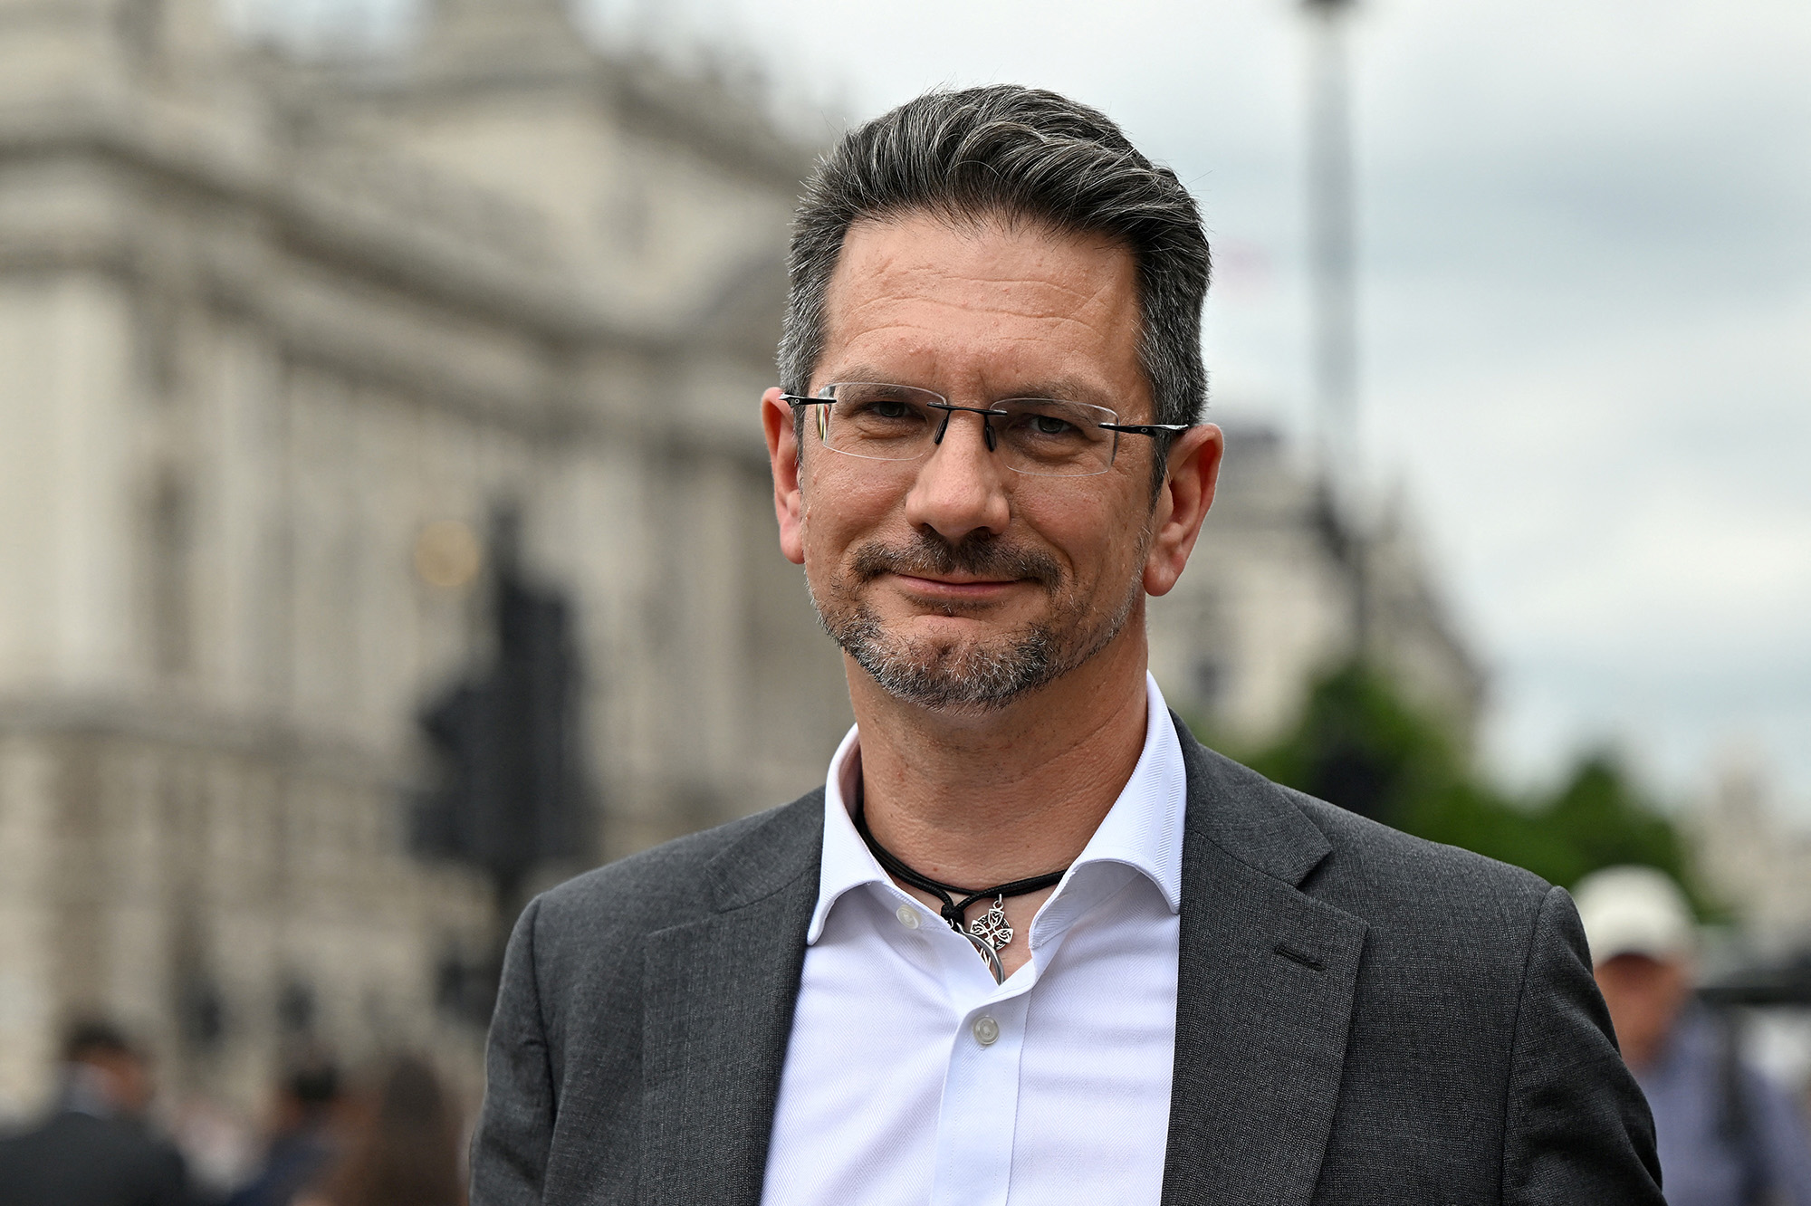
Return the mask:
<path id="1" fill-rule="evenodd" d="M 996 985 L 967 938 L 900 891 L 824 786 L 762 1201 L 770 1206 L 1155 1202 L 1175 1054 L 1183 748 L 1150 675 L 1145 750 Z"/>

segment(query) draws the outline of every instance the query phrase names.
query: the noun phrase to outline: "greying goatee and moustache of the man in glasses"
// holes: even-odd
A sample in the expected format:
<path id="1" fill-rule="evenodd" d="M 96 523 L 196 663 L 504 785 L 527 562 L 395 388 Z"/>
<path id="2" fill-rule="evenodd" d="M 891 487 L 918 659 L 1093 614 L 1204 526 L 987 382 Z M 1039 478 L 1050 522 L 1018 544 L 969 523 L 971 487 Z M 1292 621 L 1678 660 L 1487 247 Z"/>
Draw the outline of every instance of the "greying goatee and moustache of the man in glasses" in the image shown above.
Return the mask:
<path id="1" fill-rule="evenodd" d="M 887 632 L 880 617 L 853 590 L 835 583 L 822 598 L 810 585 L 824 632 L 867 672 L 875 683 L 904 703 L 953 712 L 998 712 L 1083 665 L 1125 628 L 1137 603 L 1137 583 L 1126 590 L 1105 623 L 1088 623 L 1085 599 L 1065 590 L 1061 567 L 1041 552 L 1011 552 L 992 541 L 947 545 L 922 534 L 907 550 L 871 543 L 857 550 L 851 574 L 867 583 L 882 572 L 936 574 L 962 569 L 971 574 L 1032 578 L 1056 601 L 1056 616 L 994 641 L 906 639 Z M 958 614 L 954 608 L 947 614 Z"/>

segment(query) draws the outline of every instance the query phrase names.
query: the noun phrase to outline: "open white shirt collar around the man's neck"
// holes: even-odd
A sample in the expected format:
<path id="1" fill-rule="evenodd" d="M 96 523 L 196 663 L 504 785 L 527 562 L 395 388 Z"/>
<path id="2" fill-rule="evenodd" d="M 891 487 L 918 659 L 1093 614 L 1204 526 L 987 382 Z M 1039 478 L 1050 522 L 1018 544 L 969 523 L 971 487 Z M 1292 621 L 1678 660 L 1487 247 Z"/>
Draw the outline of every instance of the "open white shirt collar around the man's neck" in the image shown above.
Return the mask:
<path id="1" fill-rule="evenodd" d="M 1119 799 L 1107 811 L 1094 837 L 1081 849 L 1068 875 L 1058 885 L 1063 895 L 1076 869 L 1096 862 L 1117 862 L 1143 873 L 1163 893 L 1170 913 L 1183 907 L 1183 815 L 1188 802 L 1183 742 L 1170 723 L 1170 708 L 1157 690 L 1157 679 L 1145 674 L 1145 748 Z M 824 933 L 831 905 L 853 887 L 889 884 L 862 835 L 849 818 L 849 799 L 860 773 L 860 730 L 849 728 L 829 761 L 824 779 L 824 851 L 819 864 L 817 909 L 806 943 Z"/>

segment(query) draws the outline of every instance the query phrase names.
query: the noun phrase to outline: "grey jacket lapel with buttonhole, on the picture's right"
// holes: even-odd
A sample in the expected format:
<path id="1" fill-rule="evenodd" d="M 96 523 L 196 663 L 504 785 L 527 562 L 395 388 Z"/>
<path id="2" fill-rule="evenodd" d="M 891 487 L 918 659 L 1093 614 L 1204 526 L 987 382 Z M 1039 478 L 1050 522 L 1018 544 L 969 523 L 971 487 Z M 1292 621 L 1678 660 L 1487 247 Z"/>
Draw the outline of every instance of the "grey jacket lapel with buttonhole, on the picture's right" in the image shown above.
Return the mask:
<path id="1" fill-rule="evenodd" d="M 1188 818 L 1163 1202 L 1308 1202 L 1365 924 L 1298 891 L 1331 847 L 1288 793 L 1177 730 Z"/>

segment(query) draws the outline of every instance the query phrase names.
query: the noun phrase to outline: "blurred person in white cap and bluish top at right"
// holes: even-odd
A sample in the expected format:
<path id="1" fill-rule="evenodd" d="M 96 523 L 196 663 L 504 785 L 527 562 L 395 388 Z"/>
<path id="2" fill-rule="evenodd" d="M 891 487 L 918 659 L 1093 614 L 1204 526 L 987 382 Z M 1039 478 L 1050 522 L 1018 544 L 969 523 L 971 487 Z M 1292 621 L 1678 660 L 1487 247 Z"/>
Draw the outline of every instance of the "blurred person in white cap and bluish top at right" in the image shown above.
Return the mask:
<path id="1" fill-rule="evenodd" d="M 1577 885 L 1597 987 L 1653 1110 L 1672 1206 L 1811 1206 L 1811 1143 L 1786 1092 L 1742 1061 L 1731 1018 L 1693 1001 L 1684 893 L 1652 867 Z"/>

